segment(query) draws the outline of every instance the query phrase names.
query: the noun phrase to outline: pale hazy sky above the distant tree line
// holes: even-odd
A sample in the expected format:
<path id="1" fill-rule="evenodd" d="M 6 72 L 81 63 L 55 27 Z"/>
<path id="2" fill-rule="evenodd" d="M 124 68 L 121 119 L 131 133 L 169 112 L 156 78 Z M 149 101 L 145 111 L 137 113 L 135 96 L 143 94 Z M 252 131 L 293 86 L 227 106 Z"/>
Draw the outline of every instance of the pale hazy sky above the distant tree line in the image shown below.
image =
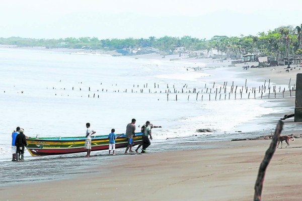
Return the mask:
<path id="1" fill-rule="evenodd" d="M 148 38 L 256 35 L 302 23 L 301 0 L 13 0 L 0 4 L 0 37 Z"/>

